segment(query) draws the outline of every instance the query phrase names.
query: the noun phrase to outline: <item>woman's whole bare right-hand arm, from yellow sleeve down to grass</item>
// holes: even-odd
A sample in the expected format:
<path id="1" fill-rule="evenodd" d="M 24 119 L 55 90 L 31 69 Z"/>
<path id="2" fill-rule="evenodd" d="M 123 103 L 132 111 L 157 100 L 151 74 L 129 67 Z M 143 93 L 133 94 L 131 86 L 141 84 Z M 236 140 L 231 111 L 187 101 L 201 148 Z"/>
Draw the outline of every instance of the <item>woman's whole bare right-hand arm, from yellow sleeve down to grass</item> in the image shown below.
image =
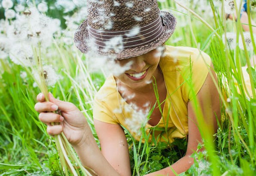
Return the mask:
<path id="1" fill-rule="evenodd" d="M 214 79 L 217 81 L 215 73 L 212 73 L 214 75 Z M 204 85 L 197 94 L 197 98 L 206 124 L 212 127 L 214 131 L 216 131 L 216 116 L 220 118 L 220 101 L 216 86 L 214 85 L 209 73 L 204 82 Z M 176 173 L 185 172 L 191 167 L 191 165 L 194 163 L 194 159 L 190 158 L 190 155 L 197 150 L 198 143 L 202 143 L 201 134 L 198 129 L 196 113 L 192 107 L 192 102 L 188 103 L 188 116 L 189 140 L 186 155 L 183 158 L 180 158 L 180 160 L 178 160 L 176 163 L 171 165 Z M 170 167 L 156 171 L 154 173 L 149 173 L 146 176 L 167 174 L 168 176 L 175 176 Z"/>

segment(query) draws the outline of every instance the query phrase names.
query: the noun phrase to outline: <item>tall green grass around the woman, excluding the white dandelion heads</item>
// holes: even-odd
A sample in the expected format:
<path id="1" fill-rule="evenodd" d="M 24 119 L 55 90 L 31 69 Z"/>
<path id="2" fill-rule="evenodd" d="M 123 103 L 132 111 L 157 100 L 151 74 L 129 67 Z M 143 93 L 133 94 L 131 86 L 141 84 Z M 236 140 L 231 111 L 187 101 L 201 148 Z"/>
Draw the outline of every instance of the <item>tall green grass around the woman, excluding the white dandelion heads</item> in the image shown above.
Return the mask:
<path id="1" fill-rule="evenodd" d="M 250 1 L 247 2 L 249 7 Z M 250 65 L 251 55 L 246 48 L 243 51 L 236 46 L 232 51 L 227 42 L 222 41 L 222 36 L 230 30 L 236 32 L 238 40 L 238 35 L 243 34 L 241 21 L 239 18 L 237 22 L 226 21 L 223 3 L 220 9 L 214 7 L 215 3 L 210 0 L 212 12 L 208 13 L 213 14 L 212 18 L 199 14 L 196 9 L 190 9 L 189 5 L 186 6 L 188 11 L 180 12 L 177 3 L 172 0 L 159 3 L 161 9 L 170 9 L 178 21 L 177 29 L 168 44 L 195 47 L 212 58 L 222 102 L 222 120 L 219 121 L 216 134 L 203 135 L 206 152 L 195 153 L 195 164 L 183 175 L 253 176 L 256 172 L 256 122 L 253 119 L 256 117 L 253 81 L 256 79 L 255 66 Z M 241 4 L 235 4 L 235 7 L 239 16 Z M 255 16 L 250 10 L 248 15 Z M 180 25 L 184 21 L 188 25 Z M 178 37 L 182 39 L 173 42 Z M 79 107 L 98 142 L 91 109 L 94 94 L 104 82 L 104 73 L 90 73 L 85 56 L 74 52 L 73 47 L 59 40 L 52 47 L 58 51 L 58 55 L 49 57 L 49 63 L 58 65 L 56 69 L 64 78 L 49 91 L 55 97 Z M 256 46 L 253 44 L 253 53 L 255 51 Z M 249 66 L 252 95 L 249 95 L 245 86 L 242 72 L 245 64 Z M 33 87 L 34 81 L 29 77 L 21 79 L 21 72 L 26 70 L 9 59 L 0 60 L 0 175 L 61 175 L 53 139 L 46 133 L 46 126 L 38 120 L 34 110 L 36 95 L 40 91 Z M 200 109 L 198 118 L 202 118 Z M 208 131 L 202 120 L 199 120 L 199 127 L 201 131 Z M 126 136 L 133 175 L 143 175 L 171 166 L 186 152 L 186 139 L 175 140 L 168 147 L 166 143 L 148 143 L 145 133 L 142 133 L 145 143 L 142 140 L 135 141 L 127 130 Z"/>

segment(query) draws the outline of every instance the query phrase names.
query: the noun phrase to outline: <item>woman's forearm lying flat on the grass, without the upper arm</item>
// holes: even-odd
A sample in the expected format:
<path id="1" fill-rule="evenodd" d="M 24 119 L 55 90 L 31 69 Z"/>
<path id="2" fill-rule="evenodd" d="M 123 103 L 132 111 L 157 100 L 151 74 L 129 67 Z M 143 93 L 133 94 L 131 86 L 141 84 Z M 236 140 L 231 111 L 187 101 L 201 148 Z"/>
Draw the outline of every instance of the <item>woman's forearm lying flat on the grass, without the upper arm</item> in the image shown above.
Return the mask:
<path id="1" fill-rule="evenodd" d="M 188 170 L 191 165 L 194 163 L 194 159 L 190 158 L 190 155 L 186 155 L 183 158 L 180 158 L 174 164 L 171 165 L 172 169 L 177 173 L 183 173 Z M 168 175 L 168 176 L 175 176 L 174 172 L 172 171 L 171 167 L 166 167 L 165 169 L 158 170 L 153 173 L 149 173 L 146 176 L 155 176 L 155 175 Z"/>

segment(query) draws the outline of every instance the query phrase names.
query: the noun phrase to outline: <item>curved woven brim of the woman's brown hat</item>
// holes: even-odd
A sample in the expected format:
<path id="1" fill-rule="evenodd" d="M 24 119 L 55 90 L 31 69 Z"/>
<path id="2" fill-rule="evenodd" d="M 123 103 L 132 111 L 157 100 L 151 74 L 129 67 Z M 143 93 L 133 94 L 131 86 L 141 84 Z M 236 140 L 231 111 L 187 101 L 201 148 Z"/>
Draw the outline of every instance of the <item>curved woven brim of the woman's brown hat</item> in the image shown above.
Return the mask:
<path id="1" fill-rule="evenodd" d="M 153 49 L 158 48 L 163 43 L 165 43 L 170 38 L 170 36 L 174 33 L 176 23 L 177 23 L 174 15 L 172 15 L 169 12 L 161 11 L 161 16 L 162 16 L 164 30 L 162 34 L 154 41 L 146 45 L 123 49 L 122 52 L 115 53 L 115 54 L 104 52 L 103 51 L 104 49 L 99 47 L 97 49 L 98 55 L 105 55 L 105 56 L 109 56 L 109 58 L 115 58 L 115 59 L 125 59 L 125 58 L 131 58 L 131 57 L 143 55 Z M 75 45 L 82 53 L 87 53 L 89 51 L 89 46 L 87 44 L 88 39 L 89 39 L 89 34 L 87 29 L 87 20 L 85 20 L 77 28 L 74 34 Z"/>

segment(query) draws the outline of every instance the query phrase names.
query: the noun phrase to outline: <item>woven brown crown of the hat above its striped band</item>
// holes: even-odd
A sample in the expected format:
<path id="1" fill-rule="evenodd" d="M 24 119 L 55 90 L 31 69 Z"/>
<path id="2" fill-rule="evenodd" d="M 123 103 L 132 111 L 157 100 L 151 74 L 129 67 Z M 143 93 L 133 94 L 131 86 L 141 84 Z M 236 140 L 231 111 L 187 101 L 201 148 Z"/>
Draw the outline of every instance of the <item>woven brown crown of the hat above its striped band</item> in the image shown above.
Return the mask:
<path id="1" fill-rule="evenodd" d="M 88 25 L 96 30 L 119 31 L 141 27 L 160 14 L 156 0 L 88 0 Z"/>

